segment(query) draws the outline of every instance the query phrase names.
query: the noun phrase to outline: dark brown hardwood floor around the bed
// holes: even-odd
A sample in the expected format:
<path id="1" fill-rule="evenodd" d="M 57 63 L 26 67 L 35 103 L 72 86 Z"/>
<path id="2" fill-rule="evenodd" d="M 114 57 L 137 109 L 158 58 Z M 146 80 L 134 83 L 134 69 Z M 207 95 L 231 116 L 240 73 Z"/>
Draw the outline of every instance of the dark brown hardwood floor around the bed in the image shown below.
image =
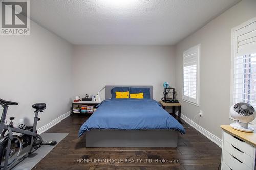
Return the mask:
<path id="1" fill-rule="evenodd" d="M 179 134 L 177 148 L 85 148 L 85 136 L 77 138 L 80 126 L 88 117 L 74 116 L 62 120 L 47 132 L 69 133 L 33 169 L 218 169 L 221 148 L 194 128 Z M 187 124 L 183 124 L 188 126 Z M 95 159 L 142 159 L 142 162 L 84 163 Z M 155 159 L 179 160 L 179 163 L 156 163 Z M 80 160 L 80 163 L 79 161 Z M 153 160 L 152 163 L 143 161 Z"/>

